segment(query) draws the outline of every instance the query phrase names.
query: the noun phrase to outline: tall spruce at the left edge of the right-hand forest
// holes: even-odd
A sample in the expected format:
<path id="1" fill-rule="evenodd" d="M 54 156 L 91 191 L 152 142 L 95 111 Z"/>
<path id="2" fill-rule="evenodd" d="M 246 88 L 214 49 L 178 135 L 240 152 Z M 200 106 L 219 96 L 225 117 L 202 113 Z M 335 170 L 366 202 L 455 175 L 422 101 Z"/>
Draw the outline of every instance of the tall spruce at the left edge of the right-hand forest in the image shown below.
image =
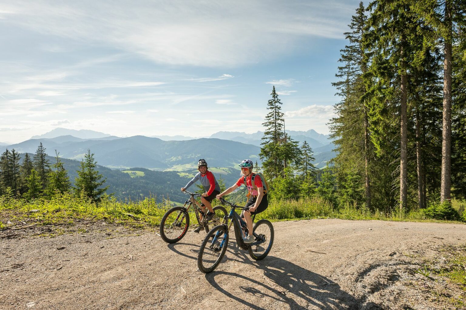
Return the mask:
<path id="1" fill-rule="evenodd" d="M 369 52 L 363 45 L 363 36 L 367 32 L 367 16 L 363 2 L 359 3 L 356 15 L 352 16 L 346 39 L 349 45 L 341 50 L 336 77 L 342 79 L 332 83 L 343 99 L 335 108 L 338 117 L 331 120 L 332 137 L 337 145 L 338 155 L 335 158 L 336 174 L 353 171 L 363 176 L 366 205 L 371 207 L 370 158 L 373 158 L 373 147 L 370 143 L 368 111 L 365 96 L 366 83 L 363 75 L 367 73 Z"/>

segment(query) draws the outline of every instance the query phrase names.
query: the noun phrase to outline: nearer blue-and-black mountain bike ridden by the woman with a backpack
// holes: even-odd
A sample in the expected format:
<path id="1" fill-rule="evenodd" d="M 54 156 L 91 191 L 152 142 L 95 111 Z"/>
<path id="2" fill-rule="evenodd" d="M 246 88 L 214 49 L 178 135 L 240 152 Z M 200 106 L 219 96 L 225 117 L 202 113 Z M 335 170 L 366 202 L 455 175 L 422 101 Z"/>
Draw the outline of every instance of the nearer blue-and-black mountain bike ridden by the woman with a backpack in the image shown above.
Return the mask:
<path id="1" fill-rule="evenodd" d="M 220 198 L 222 204 L 231 207 L 225 222 L 213 227 L 202 241 L 198 254 L 198 267 L 204 273 L 212 272 L 220 263 L 228 247 L 228 232 L 231 226 L 234 226 L 234 234 L 237 245 L 249 251 L 249 255 L 258 261 L 264 259 L 274 243 L 274 227 L 268 220 L 258 220 L 253 227 L 255 240 L 252 243 L 244 243 L 241 230 L 248 234 L 246 222 L 236 213 L 237 209 L 247 210 L 248 208 L 234 205 L 223 198 Z M 255 214 L 253 215 L 254 222 Z M 231 220 L 228 223 L 228 220 Z M 213 239 L 211 239 L 213 237 Z"/>

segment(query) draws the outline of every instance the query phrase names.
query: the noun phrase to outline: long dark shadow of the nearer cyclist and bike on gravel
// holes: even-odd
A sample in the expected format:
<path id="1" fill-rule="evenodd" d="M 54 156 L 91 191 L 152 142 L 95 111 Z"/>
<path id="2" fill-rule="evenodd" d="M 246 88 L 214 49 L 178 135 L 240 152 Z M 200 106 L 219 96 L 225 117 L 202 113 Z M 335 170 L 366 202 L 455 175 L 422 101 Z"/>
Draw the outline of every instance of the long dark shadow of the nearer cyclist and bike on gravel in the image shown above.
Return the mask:
<path id="1" fill-rule="evenodd" d="M 256 310 L 265 310 L 260 307 L 260 298 L 265 297 L 274 300 L 274 308 L 280 308 L 277 303 L 283 303 L 290 309 L 359 309 L 357 300 L 340 289 L 337 283 L 294 263 L 268 256 L 266 261 L 253 264 L 263 271 L 264 276 L 260 281 L 247 275 L 225 271 L 207 274 L 206 279 L 227 297 Z M 232 286 L 232 281 L 217 282 L 215 277 L 219 275 L 235 277 L 237 281 L 233 283 L 239 285 Z M 256 297 L 256 302 L 247 301 L 247 296 Z"/>

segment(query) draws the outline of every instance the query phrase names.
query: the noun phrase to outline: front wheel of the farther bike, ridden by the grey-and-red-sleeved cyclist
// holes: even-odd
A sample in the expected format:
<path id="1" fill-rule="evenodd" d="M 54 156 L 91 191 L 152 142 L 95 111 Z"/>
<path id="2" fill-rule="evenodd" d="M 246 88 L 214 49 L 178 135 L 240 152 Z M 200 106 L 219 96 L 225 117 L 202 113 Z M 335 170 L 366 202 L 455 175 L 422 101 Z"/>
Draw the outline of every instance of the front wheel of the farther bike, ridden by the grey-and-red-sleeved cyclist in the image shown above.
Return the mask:
<path id="1" fill-rule="evenodd" d="M 172 207 L 160 221 L 160 236 L 165 242 L 180 241 L 188 231 L 189 214 L 184 207 Z"/>

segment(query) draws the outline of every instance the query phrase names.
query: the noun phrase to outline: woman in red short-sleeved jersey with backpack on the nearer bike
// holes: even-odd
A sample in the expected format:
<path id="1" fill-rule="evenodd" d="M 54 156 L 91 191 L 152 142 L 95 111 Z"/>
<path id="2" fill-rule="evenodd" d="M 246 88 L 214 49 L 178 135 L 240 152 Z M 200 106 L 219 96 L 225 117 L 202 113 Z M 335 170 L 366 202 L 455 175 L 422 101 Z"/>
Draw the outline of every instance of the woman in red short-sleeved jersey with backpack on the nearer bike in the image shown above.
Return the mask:
<path id="1" fill-rule="evenodd" d="M 220 199 L 221 197 L 228 195 L 229 193 L 233 192 L 236 188 L 244 184 L 249 193 L 249 200 L 247 200 L 245 208 L 241 213 L 241 217 L 246 220 L 247 230 L 251 232 L 246 238 L 244 238 L 244 243 L 251 243 L 254 241 L 254 236 L 252 234 L 253 231 L 253 220 L 251 215 L 258 214 L 268 207 L 268 200 L 267 200 L 267 193 L 264 194 L 264 185 L 262 185 L 262 180 L 260 178 L 254 178 L 254 185 L 252 183 L 253 178 L 253 162 L 249 159 L 245 159 L 240 164 L 241 167 L 241 174 L 242 176 L 238 181 L 231 186 L 230 188 L 226 189 L 223 193 L 219 193 L 217 198 Z M 244 180 L 246 179 L 246 183 Z M 257 188 L 257 189 L 255 189 Z"/>

